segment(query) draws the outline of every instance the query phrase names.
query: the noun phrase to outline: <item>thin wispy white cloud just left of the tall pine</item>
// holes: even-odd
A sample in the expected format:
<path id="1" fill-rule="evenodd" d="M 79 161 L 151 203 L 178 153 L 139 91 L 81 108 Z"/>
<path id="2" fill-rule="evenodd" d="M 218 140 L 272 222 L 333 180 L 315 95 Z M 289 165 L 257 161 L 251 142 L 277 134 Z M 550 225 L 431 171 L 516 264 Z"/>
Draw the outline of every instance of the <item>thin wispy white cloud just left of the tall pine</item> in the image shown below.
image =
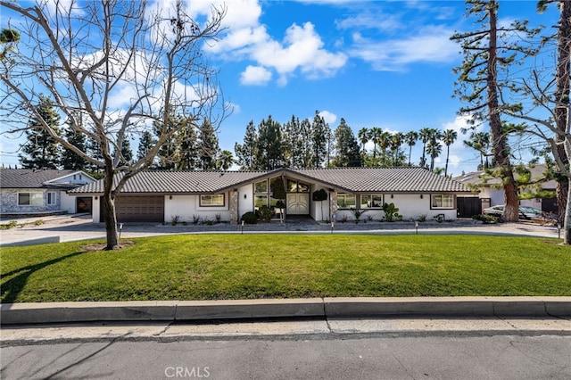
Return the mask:
<path id="1" fill-rule="evenodd" d="M 450 40 L 452 31 L 428 27 L 402 39 L 375 41 L 353 34 L 352 56 L 379 71 L 401 71 L 414 62 L 450 62 L 458 56 L 458 45 Z"/>

